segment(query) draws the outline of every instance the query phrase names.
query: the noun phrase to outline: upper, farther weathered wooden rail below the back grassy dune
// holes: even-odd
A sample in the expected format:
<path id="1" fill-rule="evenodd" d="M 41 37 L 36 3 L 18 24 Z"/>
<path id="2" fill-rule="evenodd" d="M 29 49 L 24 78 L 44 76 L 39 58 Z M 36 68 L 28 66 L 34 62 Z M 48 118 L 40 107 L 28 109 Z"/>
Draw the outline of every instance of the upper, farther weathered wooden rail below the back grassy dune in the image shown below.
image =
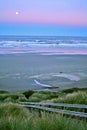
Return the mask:
<path id="1" fill-rule="evenodd" d="M 69 108 L 81 108 L 87 109 L 87 105 L 85 104 L 67 104 L 67 103 L 38 103 L 38 102 L 20 102 L 20 104 L 24 105 L 43 105 L 43 106 L 57 106 L 57 107 L 69 107 Z"/>

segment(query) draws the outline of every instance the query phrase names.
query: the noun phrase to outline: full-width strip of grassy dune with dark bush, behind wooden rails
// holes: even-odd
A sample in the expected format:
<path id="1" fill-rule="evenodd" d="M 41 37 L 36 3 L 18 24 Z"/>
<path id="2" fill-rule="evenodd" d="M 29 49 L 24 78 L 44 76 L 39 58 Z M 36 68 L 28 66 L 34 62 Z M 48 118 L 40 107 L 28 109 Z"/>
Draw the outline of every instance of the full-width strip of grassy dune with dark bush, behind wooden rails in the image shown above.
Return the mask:
<path id="1" fill-rule="evenodd" d="M 23 93 L 9 93 L 0 91 L 0 102 L 62 102 L 87 104 L 87 89 L 72 88 L 62 92 L 34 92 L 32 90 Z"/>

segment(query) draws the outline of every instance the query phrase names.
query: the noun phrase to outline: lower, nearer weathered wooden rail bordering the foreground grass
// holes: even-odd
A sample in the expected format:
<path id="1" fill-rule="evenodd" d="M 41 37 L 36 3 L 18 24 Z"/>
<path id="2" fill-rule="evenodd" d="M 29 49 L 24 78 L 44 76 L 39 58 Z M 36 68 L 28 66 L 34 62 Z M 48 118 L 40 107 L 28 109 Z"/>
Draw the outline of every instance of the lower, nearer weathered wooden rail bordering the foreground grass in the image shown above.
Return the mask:
<path id="1" fill-rule="evenodd" d="M 31 109 L 38 109 L 38 110 L 43 110 L 43 111 L 48 111 L 48 112 L 54 112 L 54 113 L 60 113 L 60 114 L 65 114 L 65 115 L 70 115 L 70 116 L 87 118 L 87 113 L 84 113 L 84 112 L 61 110 L 61 109 L 48 108 L 48 107 L 42 107 L 42 106 L 36 106 L 36 105 L 22 105 L 22 106 L 29 108 L 29 109 L 30 108 Z"/>

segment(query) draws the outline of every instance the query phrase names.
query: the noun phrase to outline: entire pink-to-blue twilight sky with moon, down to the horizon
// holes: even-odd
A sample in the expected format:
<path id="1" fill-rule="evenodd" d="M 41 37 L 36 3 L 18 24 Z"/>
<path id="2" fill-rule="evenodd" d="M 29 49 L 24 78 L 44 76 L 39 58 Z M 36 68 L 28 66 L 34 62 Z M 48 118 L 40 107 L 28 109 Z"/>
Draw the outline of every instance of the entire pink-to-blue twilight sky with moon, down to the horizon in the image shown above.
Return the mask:
<path id="1" fill-rule="evenodd" d="M 0 35 L 87 36 L 87 0 L 0 0 Z"/>

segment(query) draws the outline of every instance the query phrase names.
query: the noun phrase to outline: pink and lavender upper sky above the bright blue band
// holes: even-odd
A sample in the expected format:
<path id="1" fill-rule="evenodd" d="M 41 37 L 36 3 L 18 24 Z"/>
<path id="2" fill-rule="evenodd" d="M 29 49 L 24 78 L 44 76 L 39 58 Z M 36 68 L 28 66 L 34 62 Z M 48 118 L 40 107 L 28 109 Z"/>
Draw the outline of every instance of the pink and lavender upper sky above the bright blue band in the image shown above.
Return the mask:
<path id="1" fill-rule="evenodd" d="M 86 0 L 3 0 L 0 3 L 1 22 L 87 25 Z"/>

